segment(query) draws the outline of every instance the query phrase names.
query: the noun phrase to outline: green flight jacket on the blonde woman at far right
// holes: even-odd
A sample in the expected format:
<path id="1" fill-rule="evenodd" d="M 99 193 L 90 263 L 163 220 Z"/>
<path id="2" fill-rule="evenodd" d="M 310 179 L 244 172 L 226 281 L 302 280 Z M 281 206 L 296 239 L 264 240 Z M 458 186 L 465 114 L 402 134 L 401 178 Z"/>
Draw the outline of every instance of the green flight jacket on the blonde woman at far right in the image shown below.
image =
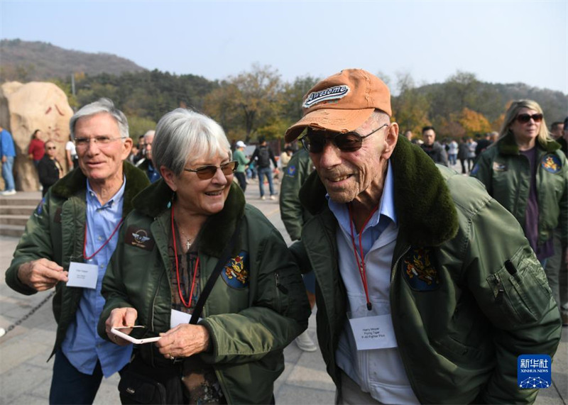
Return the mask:
<path id="1" fill-rule="evenodd" d="M 550 140 L 537 145 L 538 243 L 552 238 L 560 229 L 562 245 L 568 242 L 568 164 L 559 143 Z M 519 152 L 513 134 L 498 140 L 479 156 L 471 170 L 499 204 L 525 227 L 525 210 L 530 191 L 530 165 Z"/>

